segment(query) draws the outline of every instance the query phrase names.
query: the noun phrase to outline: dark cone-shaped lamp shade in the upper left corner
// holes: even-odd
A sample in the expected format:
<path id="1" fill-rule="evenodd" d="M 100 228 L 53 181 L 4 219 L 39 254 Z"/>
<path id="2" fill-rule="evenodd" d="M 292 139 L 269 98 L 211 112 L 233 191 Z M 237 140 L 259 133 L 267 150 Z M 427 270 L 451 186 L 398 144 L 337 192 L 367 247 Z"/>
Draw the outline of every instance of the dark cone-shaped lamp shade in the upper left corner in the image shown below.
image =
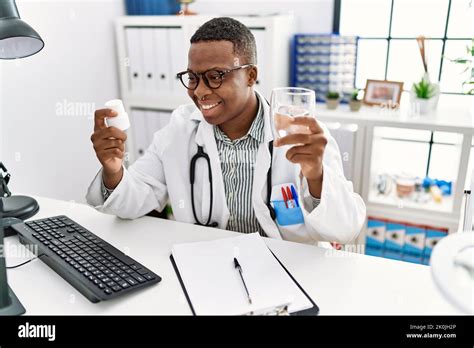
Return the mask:
<path id="1" fill-rule="evenodd" d="M 14 0 L 0 0 L 0 59 L 16 59 L 41 51 L 41 36 L 20 19 Z"/>

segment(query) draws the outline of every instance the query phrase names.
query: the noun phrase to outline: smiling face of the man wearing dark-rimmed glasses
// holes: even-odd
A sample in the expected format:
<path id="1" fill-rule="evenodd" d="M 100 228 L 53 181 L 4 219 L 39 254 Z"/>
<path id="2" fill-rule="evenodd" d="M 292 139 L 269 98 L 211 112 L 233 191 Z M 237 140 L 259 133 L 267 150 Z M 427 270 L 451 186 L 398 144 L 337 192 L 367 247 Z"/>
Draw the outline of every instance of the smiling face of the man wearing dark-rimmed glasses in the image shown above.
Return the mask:
<path id="1" fill-rule="evenodd" d="M 193 43 L 189 49 L 188 70 L 196 73 L 210 69 L 230 70 L 247 63 L 250 62 L 235 54 L 230 41 L 201 41 Z M 201 78 L 195 90 L 188 90 L 188 95 L 208 123 L 221 125 L 245 111 L 256 79 L 255 67 L 238 69 L 226 74 L 217 89 L 209 88 Z"/>

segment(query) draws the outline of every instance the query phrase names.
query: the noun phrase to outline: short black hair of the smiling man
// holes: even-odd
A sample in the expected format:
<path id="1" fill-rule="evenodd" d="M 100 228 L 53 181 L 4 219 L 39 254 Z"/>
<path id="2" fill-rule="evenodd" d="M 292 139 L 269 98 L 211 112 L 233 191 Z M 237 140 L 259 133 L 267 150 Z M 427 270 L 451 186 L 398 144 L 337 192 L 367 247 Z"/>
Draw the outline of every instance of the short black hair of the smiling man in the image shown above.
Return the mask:
<path id="1" fill-rule="evenodd" d="M 191 43 L 201 41 L 230 41 L 234 53 L 244 57 L 247 62 L 257 64 L 257 45 L 252 32 L 238 20 L 229 17 L 213 18 L 204 23 L 191 37 Z"/>

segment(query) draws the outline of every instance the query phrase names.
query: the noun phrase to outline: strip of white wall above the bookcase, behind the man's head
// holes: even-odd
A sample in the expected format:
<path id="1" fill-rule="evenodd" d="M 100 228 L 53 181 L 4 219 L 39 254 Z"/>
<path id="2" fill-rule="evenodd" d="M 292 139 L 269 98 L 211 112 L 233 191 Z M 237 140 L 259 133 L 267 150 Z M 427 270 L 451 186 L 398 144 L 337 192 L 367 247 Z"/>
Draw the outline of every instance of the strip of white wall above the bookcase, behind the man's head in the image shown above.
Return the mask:
<path id="1" fill-rule="evenodd" d="M 332 32 L 333 0 L 197 0 L 190 9 L 199 14 L 268 15 L 293 13 L 299 33 Z"/>

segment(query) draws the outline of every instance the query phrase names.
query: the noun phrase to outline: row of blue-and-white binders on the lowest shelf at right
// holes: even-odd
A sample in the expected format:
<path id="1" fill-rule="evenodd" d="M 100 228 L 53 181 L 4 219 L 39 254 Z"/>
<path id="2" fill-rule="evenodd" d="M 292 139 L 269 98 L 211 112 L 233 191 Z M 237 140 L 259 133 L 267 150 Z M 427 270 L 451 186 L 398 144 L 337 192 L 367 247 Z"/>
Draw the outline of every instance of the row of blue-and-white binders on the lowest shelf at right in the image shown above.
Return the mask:
<path id="1" fill-rule="evenodd" d="M 445 228 L 369 217 L 365 253 L 428 265 L 434 246 L 447 235 Z"/>

